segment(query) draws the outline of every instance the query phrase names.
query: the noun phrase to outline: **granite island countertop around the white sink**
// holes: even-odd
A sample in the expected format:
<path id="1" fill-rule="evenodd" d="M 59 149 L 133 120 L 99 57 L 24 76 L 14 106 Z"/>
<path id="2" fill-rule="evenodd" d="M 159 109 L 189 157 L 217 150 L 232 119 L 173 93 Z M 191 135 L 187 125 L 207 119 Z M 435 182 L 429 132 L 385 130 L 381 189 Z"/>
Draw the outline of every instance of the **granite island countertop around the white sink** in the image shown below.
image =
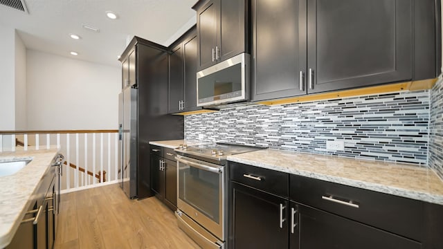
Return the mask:
<path id="1" fill-rule="evenodd" d="M 58 149 L 28 151 L 17 148 L 15 152 L 0 153 L 0 163 L 17 160 L 31 160 L 28 165 L 10 176 L 0 176 L 0 248 L 6 247 L 14 237 L 20 221 L 32 201 L 32 196 L 39 187 L 42 176 L 49 169 L 51 160 Z"/>

